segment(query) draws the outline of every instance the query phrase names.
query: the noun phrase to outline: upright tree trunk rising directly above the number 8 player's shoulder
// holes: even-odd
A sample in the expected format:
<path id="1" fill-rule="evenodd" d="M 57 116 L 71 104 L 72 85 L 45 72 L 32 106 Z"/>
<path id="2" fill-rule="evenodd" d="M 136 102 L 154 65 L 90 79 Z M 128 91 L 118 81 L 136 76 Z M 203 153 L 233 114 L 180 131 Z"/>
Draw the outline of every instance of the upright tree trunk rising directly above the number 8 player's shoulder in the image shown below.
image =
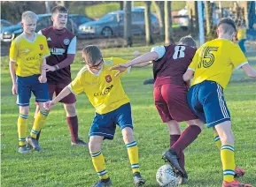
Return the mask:
<path id="1" fill-rule="evenodd" d="M 171 1 L 165 1 L 165 44 L 170 45 L 175 43 L 173 39 L 173 29 L 172 29 L 172 15 L 171 15 Z"/>

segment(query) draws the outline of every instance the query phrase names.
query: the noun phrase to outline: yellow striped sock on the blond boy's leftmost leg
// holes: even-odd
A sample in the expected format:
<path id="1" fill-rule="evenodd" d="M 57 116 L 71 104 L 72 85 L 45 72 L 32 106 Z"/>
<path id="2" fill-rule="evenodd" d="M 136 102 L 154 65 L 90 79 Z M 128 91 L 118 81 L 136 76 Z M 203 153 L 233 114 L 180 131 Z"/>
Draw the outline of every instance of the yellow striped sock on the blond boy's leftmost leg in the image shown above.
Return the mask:
<path id="1" fill-rule="evenodd" d="M 18 135 L 19 135 L 19 146 L 25 146 L 26 135 L 27 135 L 27 115 L 19 114 L 18 117 Z"/>

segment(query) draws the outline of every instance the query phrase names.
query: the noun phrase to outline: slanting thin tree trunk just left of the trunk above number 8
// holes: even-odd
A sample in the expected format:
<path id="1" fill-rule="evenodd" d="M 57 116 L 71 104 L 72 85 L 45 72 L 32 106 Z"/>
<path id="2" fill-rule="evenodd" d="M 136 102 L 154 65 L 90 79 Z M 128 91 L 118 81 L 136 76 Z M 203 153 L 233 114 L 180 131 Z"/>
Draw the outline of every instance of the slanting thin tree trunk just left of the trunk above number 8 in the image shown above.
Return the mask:
<path id="1" fill-rule="evenodd" d="M 165 2 L 153 1 L 153 5 L 159 17 L 160 36 L 162 36 L 162 38 L 164 39 L 165 38 Z"/>

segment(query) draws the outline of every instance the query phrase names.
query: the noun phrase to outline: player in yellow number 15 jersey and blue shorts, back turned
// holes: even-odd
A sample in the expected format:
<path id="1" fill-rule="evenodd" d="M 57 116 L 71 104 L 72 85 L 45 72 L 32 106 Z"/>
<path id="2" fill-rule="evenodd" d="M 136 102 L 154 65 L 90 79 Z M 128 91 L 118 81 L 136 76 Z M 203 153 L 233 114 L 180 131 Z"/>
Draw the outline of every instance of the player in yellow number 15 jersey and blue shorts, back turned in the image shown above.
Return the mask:
<path id="1" fill-rule="evenodd" d="M 206 42 L 197 50 L 183 79 L 189 81 L 194 77 L 188 93 L 190 108 L 219 135 L 220 140 L 216 140 L 221 141 L 222 187 L 250 187 L 252 185 L 234 179 L 234 136 L 223 90 L 229 84 L 232 71 L 242 68 L 252 78 L 256 78 L 256 71 L 248 64 L 239 46 L 232 42 L 236 34 L 232 19 L 221 19 L 217 34 L 218 39 Z"/>

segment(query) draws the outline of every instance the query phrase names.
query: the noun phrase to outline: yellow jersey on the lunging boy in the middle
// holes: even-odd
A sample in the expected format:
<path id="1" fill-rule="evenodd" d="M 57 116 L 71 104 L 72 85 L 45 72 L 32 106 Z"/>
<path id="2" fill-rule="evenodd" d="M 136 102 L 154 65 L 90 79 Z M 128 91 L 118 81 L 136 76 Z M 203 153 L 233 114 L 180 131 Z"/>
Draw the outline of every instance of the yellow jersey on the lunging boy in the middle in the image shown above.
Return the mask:
<path id="1" fill-rule="evenodd" d="M 86 93 L 98 114 L 109 113 L 128 103 L 129 99 L 120 82 L 120 76 L 124 73 L 114 77 L 117 71 L 108 69 L 127 62 L 128 60 L 119 57 L 104 58 L 102 69 L 97 74 L 90 71 L 86 65 L 68 87 L 74 94 Z"/>

